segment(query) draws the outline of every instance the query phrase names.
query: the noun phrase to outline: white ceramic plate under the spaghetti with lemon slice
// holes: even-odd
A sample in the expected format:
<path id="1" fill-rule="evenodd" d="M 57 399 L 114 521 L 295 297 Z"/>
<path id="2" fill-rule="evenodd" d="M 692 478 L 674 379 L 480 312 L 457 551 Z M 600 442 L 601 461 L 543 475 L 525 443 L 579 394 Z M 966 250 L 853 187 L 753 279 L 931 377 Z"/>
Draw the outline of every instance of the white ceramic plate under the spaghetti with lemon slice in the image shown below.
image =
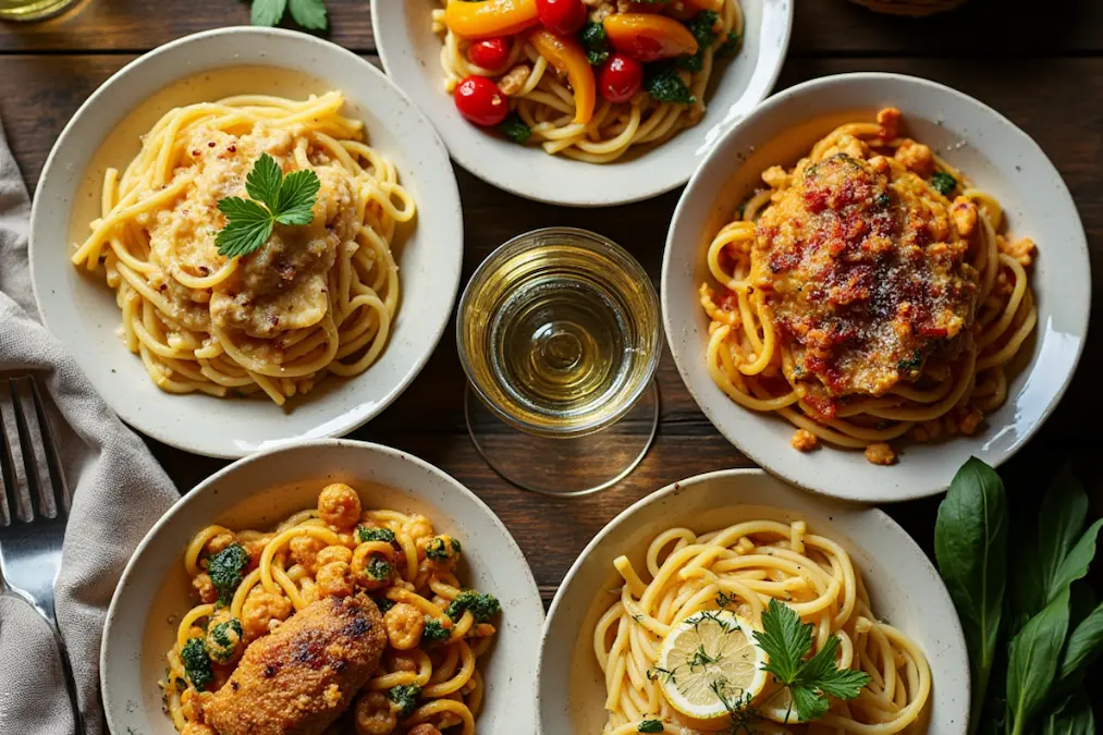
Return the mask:
<path id="1" fill-rule="evenodd" d="M 950 594 L 911 536 L 877 509 L 801 492 L 761 470 L 725 470 L 675 482 L 613 519 L 570 567 L 540 642 L 536 684 L 539 735 L 600 733 L 606 684 L 593 656 L 593 628 L 615 600 L 621 554 L 645 568 L 655 535 L 674 526 L 698 533 L 745 520 L 804 520 L 837 541 L 865 579 L 874 611 L 908 633 L 931 664 L 928 735 L 962 735 L 968 720 L 968 656 Z"/>

